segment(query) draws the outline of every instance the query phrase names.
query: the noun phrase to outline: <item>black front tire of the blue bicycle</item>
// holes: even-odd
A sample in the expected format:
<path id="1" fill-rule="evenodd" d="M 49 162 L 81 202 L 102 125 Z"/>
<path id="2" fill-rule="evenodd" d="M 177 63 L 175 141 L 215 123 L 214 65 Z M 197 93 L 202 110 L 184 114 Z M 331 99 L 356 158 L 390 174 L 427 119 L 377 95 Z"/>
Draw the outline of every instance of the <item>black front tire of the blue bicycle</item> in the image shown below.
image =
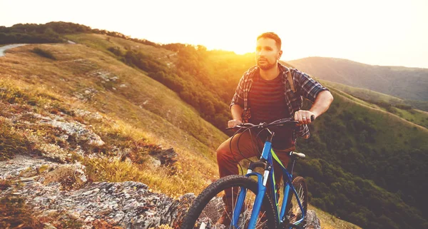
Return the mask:
<path id="1" fill-rule="evenodd" d="M 205 188 L 205 190 L 203 190 L 202 193 L 200 193 L 200 195 L 198 195 L 197 198 L 195 198 L 192 206 L 188 210 L 188 213 L 185 215 L 185 218 L 183 219 L 183 223 L 180 228 L 181 229 L 224 228 L 223 225 L 221 226 L 210 225 L 210 223 L 217 222 L 218 218 L 215 218 L 215 217 L 218 217 L 218 215 L 216 215 L 213 219 L 211 218 L 208 219 L 209 222 L 205 224 L 205 227 L 202 226 L 202 223 L 200 223 L 201 220 L 198 221 L 198 219 L 205 217 L 204 220 L 206 220 L 206 218 L 208 217 L 208 213 L 205 213 L 204 210 L 205 210 L 205 207 L 209 205 L 208 203 L 215 203 L 215 201 L 219 201 L 218 200 L 219 196 L 222 195 L 222 193 L 225 193 L 226 189 L 233 188 L 233 187 L 237 187 L 237 188 L 244 187 L 250 190 L 251 193 L 257 193 L 258 191 L 258 183 L 252 178 L 248 178 L 243 175 L 228 175 L 223 178 L 220 178 L 219 180 L 216 180 L 214 183 L 211 183 L 207 188 Z M 248 191 L 247 194 L 249 193 L 250 192 Z M 248 198 L 250 198 L 249 195 L 246 195 L 245 199 L 248 199 Z M 219 205 L 218 203 L 219 202 L 217 202 L 217 205 Z M 210 205 L 215 205 L 215 204 L 210 204 Z M 248 208 L 248 212 L 245 210 L 244 213 L 241 213 L 240 220 L 243 220 L 243 219 L 245 220 L 245 218 L 248 218 L 249 220 L 249 216 L 245 214 L 250 213 L 251 209 L 249 208 L 249 206 L 246 206 L 246 207 Z M 250 207 L 251 208 L 253 207 L 253 202 L 251 202 Z M 222 210 L 223 208 L 220 207 L 219 210 Z M 272 201 L 270 200 L 269 195 L 265 195 L 265 198 L 263 198 L 263 209 L 265 210 L 265 212 L 263 212 L 263 215 L 265 215 L 266 220 L 263 221 L 263 225 L 259 225 L 259 226 L 256 225 L 256 228 L 269 228 L 269 229 L 277 228 L 277 215 L 275 214 L 274 205 L 272 204 Z M 258 220 L 260 220 L 260 217 Z M 206 225 L 210 225 L 210 227 L 207 228 Z M 243 229 L 247 228 L 248 226 L 248 225 L 245 225 L 245 223 L 240 223 L 240 225 L 241 225 L 240 228 L 243 228 Z"/>

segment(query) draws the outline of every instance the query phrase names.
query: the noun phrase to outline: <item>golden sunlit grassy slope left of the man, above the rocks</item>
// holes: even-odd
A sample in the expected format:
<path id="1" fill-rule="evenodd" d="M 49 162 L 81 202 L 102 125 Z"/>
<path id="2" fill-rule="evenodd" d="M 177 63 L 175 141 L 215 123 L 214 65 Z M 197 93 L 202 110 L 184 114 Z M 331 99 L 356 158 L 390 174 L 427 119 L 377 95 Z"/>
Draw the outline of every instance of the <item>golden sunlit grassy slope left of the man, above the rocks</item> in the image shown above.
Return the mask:
<path id="1" fill-rule="evenodd" d="M 34 54 L 35 47 L 49 51 L 56 61 Z M 56 95 L 53 101 L 59 97 L 58 103 L 98 111 L 114 120 L 93 123 L 101 132 L 98 135 L 109 138 L 109 131 L 114 130 L 133 141 L 143 139 L 163 148 L 173 147 L 178 152 L 178 167 L 192 165 L 193 170 L 185 169 L 175 175 L 162 169 L 141 170 L 143 175 L 137 180 L 153 189 L 171 195 L 197 192 L 205 184 L 200 180 L 216 177 L 213 153 L 227 136 L 203 121 L 173 91 L 116 58 L 79 44 L 29 45 L 8 51 L 5 58 L 0 58 L 0 66 L 4 87 L 17 86 L 11 90 L 28 93 L 29 98 L 38 98 L 32 91 L 49 91 Z M 125 165 L 118 162 L 109 166 Z M 165 176 L 173 185 L 163 182 Z M 128 178 L 124 175 L 123 179 Z"/>

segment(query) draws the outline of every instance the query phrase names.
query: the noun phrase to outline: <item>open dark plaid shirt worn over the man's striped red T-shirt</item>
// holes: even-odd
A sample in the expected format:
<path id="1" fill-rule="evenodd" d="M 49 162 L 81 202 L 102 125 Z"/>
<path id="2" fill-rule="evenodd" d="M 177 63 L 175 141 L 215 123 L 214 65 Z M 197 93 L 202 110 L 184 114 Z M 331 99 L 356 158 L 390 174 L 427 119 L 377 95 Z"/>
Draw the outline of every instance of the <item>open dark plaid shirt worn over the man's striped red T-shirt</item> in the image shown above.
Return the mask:
<path id="1" fill-rule="evenodd" d="M 287 68 L 286 66 L 282 66 L 280 63 L 278 63 L 278 66 L 280 67 L 280 75 L 284 85 L 285 104 L 290 112 L 290 117 L 294 117 L 295 112 L 302 108 L 303 97 L 309 99 L 313 103 L 320 91 L 328 91 L 327 88 L 310 78 L 306 73 L 298 71 L 295 68 Z M 251 85 L 253 84 L 253 76 L 257 71 L 259 71 L 258 66 L 253 66 L 244 73 L 243 77 L 240 78 L 235 95 L 232 98 L 232 103 L 230 103 L 230 107 L 237 104 L 244 109 L 244 123 L 247 123 L 251 117 L 251 108 L 248 105 L 248 94 L 250 93 Z M 287 80 L 287 71 L 291 71 L 292 81 L 296 91 L 295 93 L 291 90 L 290 83 Z M 310 137 L 307 125 L 300 126 L 297 131 L 297 136 L 302 138 Z"/>

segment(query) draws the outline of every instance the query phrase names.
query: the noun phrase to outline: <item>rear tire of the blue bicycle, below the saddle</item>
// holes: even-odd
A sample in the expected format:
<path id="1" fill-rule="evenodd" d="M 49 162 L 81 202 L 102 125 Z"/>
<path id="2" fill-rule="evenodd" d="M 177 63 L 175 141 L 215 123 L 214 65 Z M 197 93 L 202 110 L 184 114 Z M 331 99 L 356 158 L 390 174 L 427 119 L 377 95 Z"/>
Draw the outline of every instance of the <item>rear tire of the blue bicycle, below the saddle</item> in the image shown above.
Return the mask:
<path id="1" fill-rule="evenodd" d="M 301 176 L 297 176 L 292 180 L 292 185 L 295 187 L 297 195 L 299 195 L 300 201 L 303 207 L 303 213 L 307 213 L 307 185 L 305 178 Z M 287 200 L 287 218 L 290 223 L 294 223 L 298 218 L 301 218 L 301 210 L 297 203 L 296 196 L 290 190 L 290 194 L 288 195 Z"/>

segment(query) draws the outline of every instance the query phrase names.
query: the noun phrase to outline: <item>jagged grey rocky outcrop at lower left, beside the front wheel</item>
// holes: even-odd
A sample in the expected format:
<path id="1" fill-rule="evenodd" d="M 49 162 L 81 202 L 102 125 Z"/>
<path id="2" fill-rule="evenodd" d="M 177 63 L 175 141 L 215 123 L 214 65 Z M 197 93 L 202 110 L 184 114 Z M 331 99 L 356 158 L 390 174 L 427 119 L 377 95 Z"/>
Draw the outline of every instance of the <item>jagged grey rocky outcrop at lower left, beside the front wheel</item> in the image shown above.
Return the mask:
<path id="1" fill-rule="evenodd" d="M 6 195 L 24 198 L 40 217 L 61 215 L 63 219 L 82 223 L 84 228 L 91 228 L 99 220 L 123 228 L 177 226 L 195 198 L 190 193 L 173 199 L 133 181 L 87 183 L 80 164 L 61 165 L 18 156 L 0 162 L 0 168 L 2 178 L 18 184 L 1 191 L 0 198 Z"/>

